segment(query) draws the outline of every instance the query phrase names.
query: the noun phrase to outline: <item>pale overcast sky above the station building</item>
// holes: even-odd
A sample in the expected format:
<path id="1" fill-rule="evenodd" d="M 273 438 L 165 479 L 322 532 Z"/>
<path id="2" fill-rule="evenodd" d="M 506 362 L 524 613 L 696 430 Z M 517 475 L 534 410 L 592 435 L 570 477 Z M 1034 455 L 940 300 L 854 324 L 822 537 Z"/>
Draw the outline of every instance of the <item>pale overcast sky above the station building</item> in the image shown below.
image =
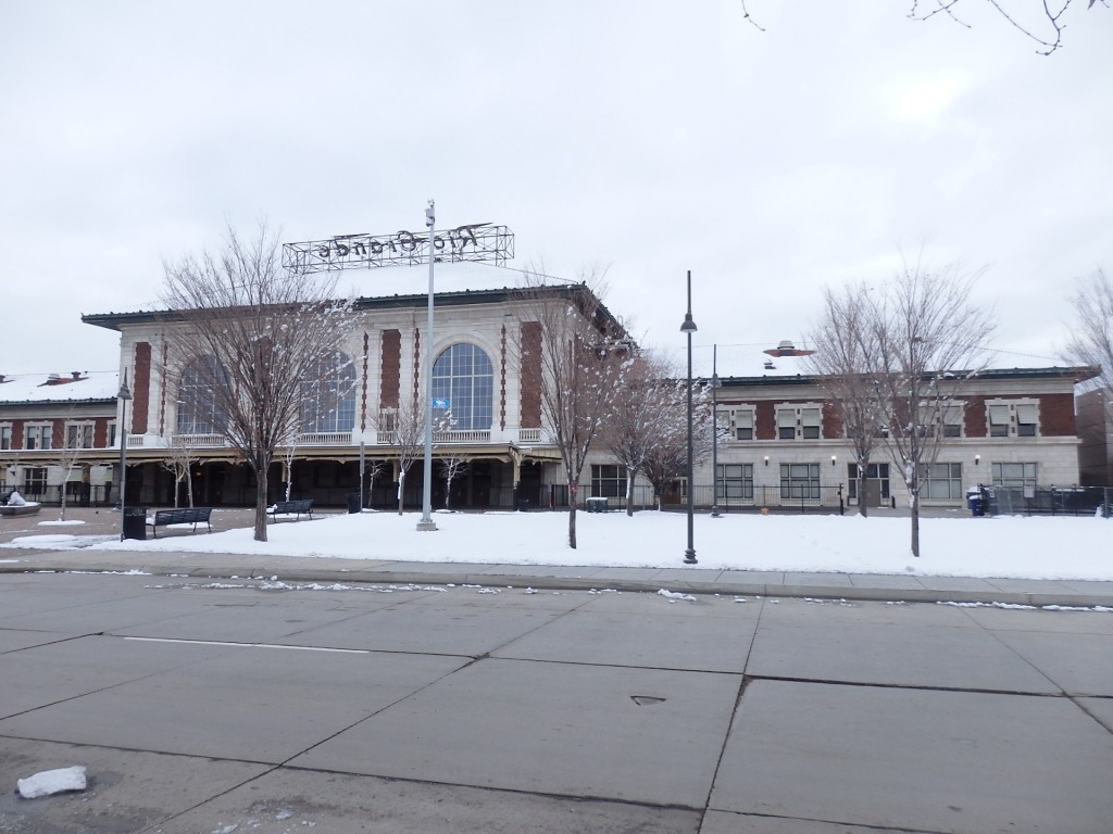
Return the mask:
<path id="1" fill-rule="evenodd" d="M 512 267 L 605 269 L 651 347 L 690 269 L 725 375 L 922 250 L 985 268 L 995 365 L 1053 364 L 1113 269 L 1113 9 L 1041 57 L 984 0 L 909 4 L 0 0 L 0 373 L 115 369 L 81 314 L 157 306 L 226 224 L 423 230 L 430 198 L 510 227 Z"/>

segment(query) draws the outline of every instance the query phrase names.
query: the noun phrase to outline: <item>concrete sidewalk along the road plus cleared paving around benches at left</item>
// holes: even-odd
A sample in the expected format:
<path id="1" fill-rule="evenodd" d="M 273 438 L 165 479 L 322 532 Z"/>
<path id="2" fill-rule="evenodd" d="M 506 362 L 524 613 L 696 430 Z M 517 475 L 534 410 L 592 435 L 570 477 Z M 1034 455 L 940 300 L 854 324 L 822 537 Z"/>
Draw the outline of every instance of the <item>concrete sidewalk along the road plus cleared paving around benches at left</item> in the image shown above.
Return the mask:
<path id="1" fill-rule="evenodd" d="M 52 508 L 47 508 L 43 513 Z M 33 517 L 32 517 L 33 518 Z M 70 508 L 67 518 L 83 522 L 82 535 L 118 534 L 119 515 L 110 509 Z M 250 526 L 252 510 L 214 515 L 214 529 Z M 6 519 L 0 543 L 27 535 L 35 522 Z M 39 530 L 37 530 L 39 532 Z M 160 538 L 167 534 L 160 534 Z M 184 538 L 189 533 L 170 533 Z M 184 543 L 184 546 L 188 546 Z M 299 558 L 243 554 L 141 553 L 85 549 L 2 548 L 0 573 L 32 570 L 135 570 L 156 576 L 277 577 L 289 583 L 383 583 L 393 585 L 490 585 L 536 589 L 615 589 L 827 599 L 1001 603 L 1113 607 L 1113 582 L 994 579 L 912 574 L 790 573 L 708 570 L 703 568 L 624 568 L 427 563 L 351 558 Z"/>

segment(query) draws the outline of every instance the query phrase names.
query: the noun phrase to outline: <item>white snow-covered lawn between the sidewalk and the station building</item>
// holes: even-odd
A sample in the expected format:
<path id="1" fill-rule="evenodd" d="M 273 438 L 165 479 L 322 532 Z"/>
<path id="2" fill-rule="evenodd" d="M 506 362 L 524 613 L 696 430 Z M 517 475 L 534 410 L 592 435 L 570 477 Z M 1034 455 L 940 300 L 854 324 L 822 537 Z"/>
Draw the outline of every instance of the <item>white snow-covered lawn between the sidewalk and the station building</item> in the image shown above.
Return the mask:
<path id="1" fill-rule="evenodd" d="M 644 512 L 579 513 L 579 547 L 568 547 L 564 513 L 436 513 L 437 529 L 418 533 L 420 514 L 365 512 L 270 524 L 269 540 L 249 528 L 142 542 L 80 536 L 22 536 L 14 547 L 90 547 L 148 552 L 274 554 L 402 562 L 515 565 L 688 567 L 692 570 L 791 570 L 924 576 L 1113 580 L 1113 520 L 1083 517 L 920 520 L 919 558 L 906 517 L 729 515 L 695 519 L 699 564 L 683 565 L 687 517 Z"/>

